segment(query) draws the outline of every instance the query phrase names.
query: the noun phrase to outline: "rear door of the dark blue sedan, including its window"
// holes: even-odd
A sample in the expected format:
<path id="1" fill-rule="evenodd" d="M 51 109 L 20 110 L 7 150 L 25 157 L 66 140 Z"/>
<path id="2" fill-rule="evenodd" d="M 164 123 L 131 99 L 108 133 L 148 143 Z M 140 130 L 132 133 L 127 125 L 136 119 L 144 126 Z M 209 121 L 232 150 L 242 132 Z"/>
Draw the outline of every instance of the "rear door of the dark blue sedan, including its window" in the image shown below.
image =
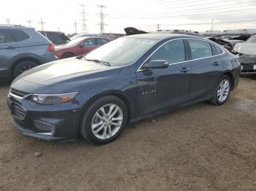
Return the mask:
<path id="1" fill-rule="evenodd" d="M 192 66 L 191 99 L 206 98 L 212 94 L 223 63 L 219 55 L 224 51 L 214 44 L 200 40 L 187 39 Z M 218 51 L 218 52 L 217 52 Z"/>

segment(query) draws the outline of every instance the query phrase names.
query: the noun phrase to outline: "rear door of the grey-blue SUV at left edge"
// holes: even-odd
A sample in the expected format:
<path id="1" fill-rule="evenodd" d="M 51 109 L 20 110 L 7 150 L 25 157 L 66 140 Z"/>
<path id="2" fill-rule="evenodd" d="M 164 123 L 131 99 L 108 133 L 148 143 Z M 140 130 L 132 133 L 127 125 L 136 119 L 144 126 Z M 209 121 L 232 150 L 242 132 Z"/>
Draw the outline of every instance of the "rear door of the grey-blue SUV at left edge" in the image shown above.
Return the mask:
<path id="1" fill-rule="evenodd" d="M 0 76 L 10 70 L 12 58 L 19 54 L 18 43 L 10 29 L 0 29 Z"/>

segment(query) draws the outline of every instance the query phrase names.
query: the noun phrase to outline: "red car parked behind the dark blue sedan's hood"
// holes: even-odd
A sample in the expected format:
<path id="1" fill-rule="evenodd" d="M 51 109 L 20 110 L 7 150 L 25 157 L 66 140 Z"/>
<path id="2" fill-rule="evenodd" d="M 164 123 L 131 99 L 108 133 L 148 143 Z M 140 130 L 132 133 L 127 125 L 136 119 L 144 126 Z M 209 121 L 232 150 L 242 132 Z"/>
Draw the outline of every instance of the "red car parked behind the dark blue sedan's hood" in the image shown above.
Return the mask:
<path id="1" fill-rule="evenodd" d="M 110 40 L 101 37 L 79 37 L 62 46 L 56 47 L 56 56 L 59 59 L 84 55 L 95 48 L 108 43 Z"/>

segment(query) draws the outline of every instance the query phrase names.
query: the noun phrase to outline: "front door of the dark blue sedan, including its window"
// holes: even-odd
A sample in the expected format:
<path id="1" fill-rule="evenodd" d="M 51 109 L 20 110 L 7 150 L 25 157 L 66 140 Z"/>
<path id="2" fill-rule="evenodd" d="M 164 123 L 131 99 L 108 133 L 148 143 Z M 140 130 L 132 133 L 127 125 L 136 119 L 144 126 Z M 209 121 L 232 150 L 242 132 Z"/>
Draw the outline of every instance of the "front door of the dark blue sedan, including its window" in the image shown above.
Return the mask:
<path id="1" fill-rule="evenodd" d="M 165 60 L 166 69 L 143 69 L 137 71 L 138 104 L 141 117 L 189 100 L 191 66 L 187 61 L 187 44 L 183 39 L 174 39 L 162 44 L 146 63 Z"/>

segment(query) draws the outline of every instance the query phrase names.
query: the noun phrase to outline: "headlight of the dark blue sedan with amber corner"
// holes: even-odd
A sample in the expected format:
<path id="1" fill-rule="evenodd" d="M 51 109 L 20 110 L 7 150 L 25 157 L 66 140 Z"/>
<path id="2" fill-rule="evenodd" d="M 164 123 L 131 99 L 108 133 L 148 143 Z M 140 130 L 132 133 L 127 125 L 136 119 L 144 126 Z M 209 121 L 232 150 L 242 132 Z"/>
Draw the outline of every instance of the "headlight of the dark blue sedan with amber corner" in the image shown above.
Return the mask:
<path id="1" fill-rule="evenodd" d="M 63 94 L 33 94 L 31 95 L 31 101 L 42 105 L 55 105 L 64 104 L 75 98 L 78 92 L 63 93 Z"/>

